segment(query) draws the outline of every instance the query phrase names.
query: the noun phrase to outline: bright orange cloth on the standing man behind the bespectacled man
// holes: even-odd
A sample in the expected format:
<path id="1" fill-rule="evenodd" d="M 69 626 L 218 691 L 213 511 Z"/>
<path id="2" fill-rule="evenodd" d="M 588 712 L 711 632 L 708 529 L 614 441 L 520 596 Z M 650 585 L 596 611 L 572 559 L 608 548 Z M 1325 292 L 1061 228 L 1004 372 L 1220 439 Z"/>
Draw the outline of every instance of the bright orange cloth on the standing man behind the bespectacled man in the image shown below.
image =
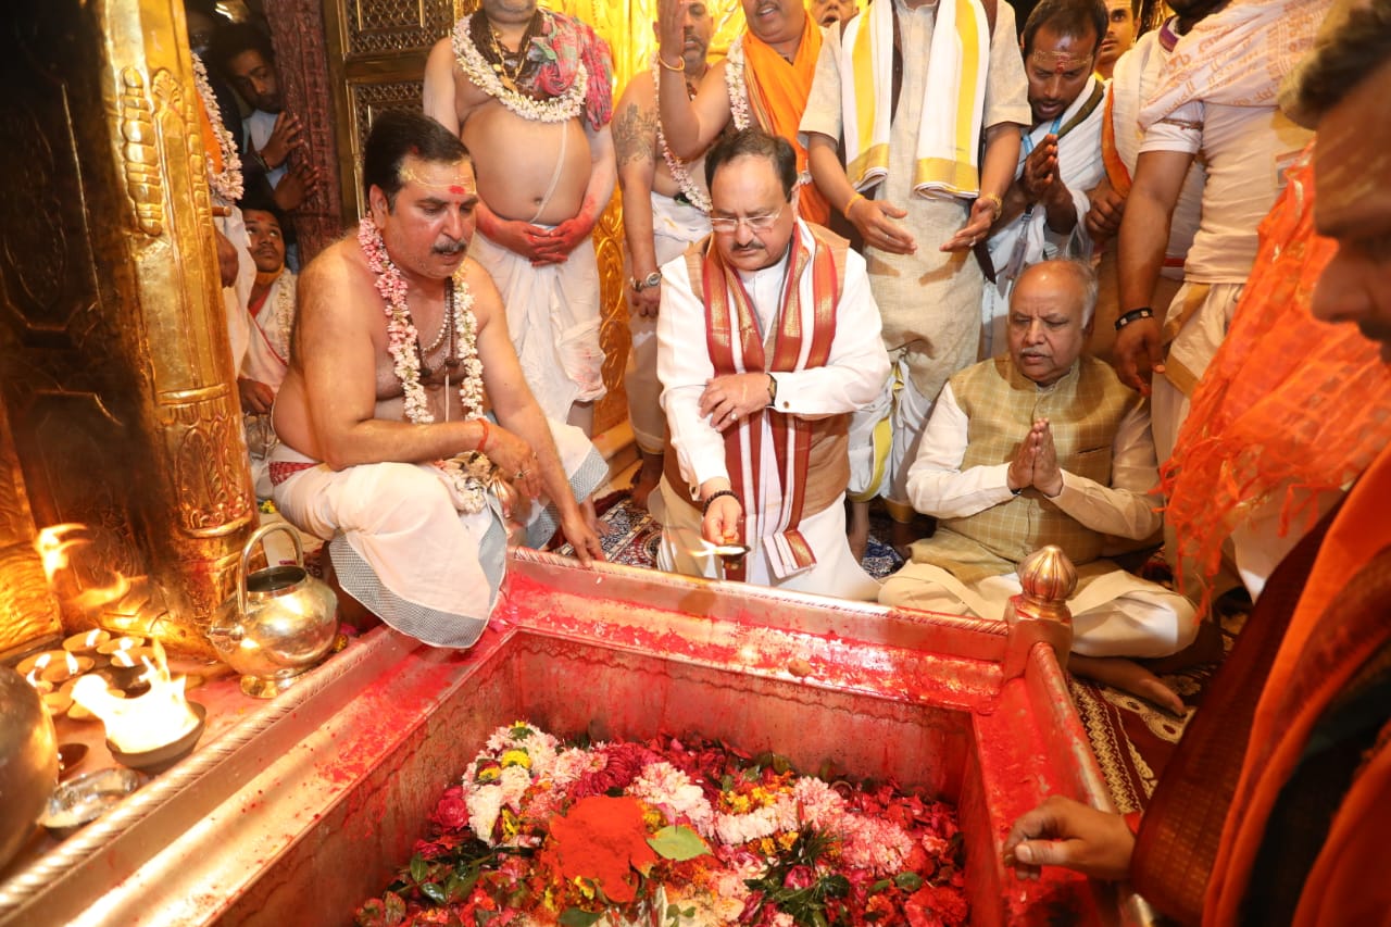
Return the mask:
<path id="1" fill-rule="evenodd" d="M 821 57 L 821 26 L 804 18 L 797 56 L 791 64 L 753 32 L 744 33 L 744 85 L 754 118 L 773 135 L 782 135 L 797 149 L 797 171 L 807 171 L 807 149 L 797 141 L 797 127 L 811 96 L 811 81 L 817 77 Z M 830 205 L 815 184 L 805 184 L 798 198 L 801 217 L 825 225 L 830 220 Z"/>

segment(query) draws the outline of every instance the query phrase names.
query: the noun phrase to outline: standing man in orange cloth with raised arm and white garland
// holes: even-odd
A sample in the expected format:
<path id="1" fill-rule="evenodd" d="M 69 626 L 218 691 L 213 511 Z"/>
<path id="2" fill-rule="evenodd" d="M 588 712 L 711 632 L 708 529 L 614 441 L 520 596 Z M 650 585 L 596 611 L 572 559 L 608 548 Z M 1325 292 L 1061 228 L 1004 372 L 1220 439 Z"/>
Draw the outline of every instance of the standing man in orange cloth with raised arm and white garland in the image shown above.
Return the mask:
<path id="1" fill-rule="evenodd" d="M 662 129 L 677 157 L 698 157 L 733 127 L 762 127 L 780 135 L 797 152 L 801 217 L 825 225 L 830 207 L 810 184 L 807 149 L 797 141 L 797 125 L 807 109 L 811 79 L 821 54 L 821 26 L 801 0 L 741 0 L 748 29 L 729 46 L 729 54 L 701 78 L 696 96 L 684 90 L 684 10 L 697 0 L 659 0 L 658 64 L 661 65 Z"/>

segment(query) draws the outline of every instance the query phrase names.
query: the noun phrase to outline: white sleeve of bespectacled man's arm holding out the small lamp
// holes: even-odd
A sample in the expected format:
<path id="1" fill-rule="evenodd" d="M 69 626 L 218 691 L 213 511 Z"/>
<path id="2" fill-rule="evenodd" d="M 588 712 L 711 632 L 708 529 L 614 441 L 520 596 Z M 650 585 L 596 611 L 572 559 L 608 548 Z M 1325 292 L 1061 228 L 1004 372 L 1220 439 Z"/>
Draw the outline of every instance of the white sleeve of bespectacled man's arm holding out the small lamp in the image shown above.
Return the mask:
<path id="1" fill-rule="evenodd" d="M 715 376 L 715 365 L 705 347 L 705 308 L 691 292 L 684 256 L 662 266 L 657 376 L 682 476 L 696 487 L 716 476 L 727 477 L 725 438 L 700 412 L 700 397 Z"/>

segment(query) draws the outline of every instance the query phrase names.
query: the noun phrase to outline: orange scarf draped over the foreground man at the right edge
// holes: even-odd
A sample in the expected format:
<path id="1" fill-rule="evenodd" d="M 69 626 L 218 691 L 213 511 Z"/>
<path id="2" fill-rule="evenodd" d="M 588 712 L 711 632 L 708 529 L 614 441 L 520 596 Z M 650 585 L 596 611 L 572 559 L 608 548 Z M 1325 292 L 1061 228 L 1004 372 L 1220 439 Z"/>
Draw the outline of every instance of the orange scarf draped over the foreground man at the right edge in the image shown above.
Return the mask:
<path id="1" fill-rule="evenodd" d="M 1362 566 L 1391 546 L 1391 519 L 1385 516 L 1388 493 L 1391 448 L 1384 450 L 1358 480 L 1330 526 L 1262 689 L 1241 779 L 1207 882 L 1203 923 L 1238 920 L 1270 811 L 1299 764 L 1310 731 L 1363 661 L 1391 636 L 1391 622 L 1384 615 L 1363 617 L 1360 628 L 1349 628 L 1346 622 L 1358 617 L 1344 615 L 1337 607 Z M 1317 660 L 1320 651 L 1337 653 L 1337 658 Z M 1376 895 L 1385 896 L 1384 835 L 1391 828 L 1388 788 L 1391 749 L 1383 739 L 1333 820 L 1328 839 L 1305 884 L 1295 924 L 1367 923 L 1344 914 Z M 1376 916 L 1384 917 L 1385 910 Z"/>

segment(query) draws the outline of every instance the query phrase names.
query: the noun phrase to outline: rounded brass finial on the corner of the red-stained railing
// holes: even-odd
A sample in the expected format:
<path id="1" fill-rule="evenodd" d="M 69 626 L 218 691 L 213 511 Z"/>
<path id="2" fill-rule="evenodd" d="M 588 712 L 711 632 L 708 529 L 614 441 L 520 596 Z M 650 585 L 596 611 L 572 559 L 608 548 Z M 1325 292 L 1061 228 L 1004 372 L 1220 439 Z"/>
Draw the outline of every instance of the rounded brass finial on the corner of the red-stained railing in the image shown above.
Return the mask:
<path id="1" fill-rule="evenodd" d="M 1077 589 L 1077 568 L 1056 544 L 1040 547 L 1018 566 L 1022 592 L 1004 607 L 1010 643 L 1004 656 L 1004 678 L 1024 675 L 1034 644 L 1053 647 L 1057 663 L 1067 670 L 1072 650 L 1072 612 L 1067 597 Z"/>

